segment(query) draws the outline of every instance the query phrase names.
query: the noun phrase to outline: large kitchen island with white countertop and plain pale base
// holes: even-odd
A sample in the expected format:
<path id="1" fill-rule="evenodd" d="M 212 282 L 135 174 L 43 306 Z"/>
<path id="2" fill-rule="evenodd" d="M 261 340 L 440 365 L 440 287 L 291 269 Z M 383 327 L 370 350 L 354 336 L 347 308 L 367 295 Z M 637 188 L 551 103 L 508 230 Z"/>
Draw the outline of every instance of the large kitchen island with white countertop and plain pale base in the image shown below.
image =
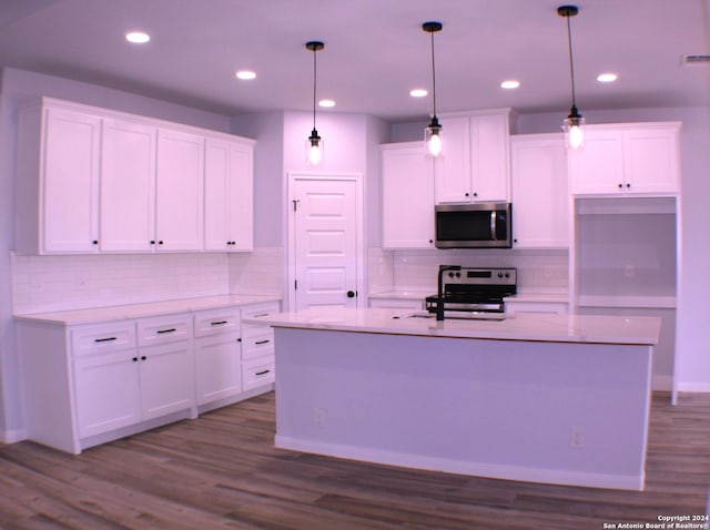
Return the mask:
<path id="1" fill-rule="evenodd" d="M 328 308 L 252 322 L 275 329 L 277 447 L 643 488 L 659 318 Z"/>

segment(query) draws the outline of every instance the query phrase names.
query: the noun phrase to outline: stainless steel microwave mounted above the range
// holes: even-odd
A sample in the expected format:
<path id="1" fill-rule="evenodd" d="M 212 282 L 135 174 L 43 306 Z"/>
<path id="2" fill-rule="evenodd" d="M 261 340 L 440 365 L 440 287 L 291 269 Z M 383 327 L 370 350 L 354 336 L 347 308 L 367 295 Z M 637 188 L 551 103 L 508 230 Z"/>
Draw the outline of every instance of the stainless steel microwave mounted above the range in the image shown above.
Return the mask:
<path id="1" fill-rule="evenodd" d="M 510 248 L 510 203 L 437 204 L 437 248 Z"/>

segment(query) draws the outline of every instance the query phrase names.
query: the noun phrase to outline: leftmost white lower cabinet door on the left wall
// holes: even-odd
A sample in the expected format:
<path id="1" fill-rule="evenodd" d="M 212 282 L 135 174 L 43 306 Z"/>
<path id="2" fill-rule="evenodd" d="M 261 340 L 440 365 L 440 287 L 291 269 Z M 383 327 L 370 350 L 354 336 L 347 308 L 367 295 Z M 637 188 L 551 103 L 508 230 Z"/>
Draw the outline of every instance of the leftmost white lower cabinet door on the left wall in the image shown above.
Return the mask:
<path id="1" fill-rule="evenodd" d="M 79 438 L 141 420 L 138 360 L 135 350 L 74 357 Z"/>

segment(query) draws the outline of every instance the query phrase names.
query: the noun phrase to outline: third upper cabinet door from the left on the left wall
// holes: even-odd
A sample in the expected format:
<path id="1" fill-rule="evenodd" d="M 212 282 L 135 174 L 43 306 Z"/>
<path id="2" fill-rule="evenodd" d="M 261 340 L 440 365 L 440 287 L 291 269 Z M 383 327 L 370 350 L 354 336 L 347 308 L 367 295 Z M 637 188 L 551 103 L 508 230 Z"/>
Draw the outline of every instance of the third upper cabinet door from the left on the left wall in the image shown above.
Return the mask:
<path id="1" fill-rule="evenodd" d="M 155 248 L 200 251 L 203 222 L 204 139 L 158 131 Z"/>

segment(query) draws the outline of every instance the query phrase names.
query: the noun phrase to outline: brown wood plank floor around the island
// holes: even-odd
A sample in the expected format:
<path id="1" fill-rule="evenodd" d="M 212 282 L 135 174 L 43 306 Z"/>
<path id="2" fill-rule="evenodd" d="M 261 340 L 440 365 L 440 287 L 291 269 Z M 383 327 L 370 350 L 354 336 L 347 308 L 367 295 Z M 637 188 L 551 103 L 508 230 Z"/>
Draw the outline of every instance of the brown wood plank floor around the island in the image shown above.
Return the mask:
<path id="1" fill-rule="evenodd" d="M 271 393 L 81 456 L 0 446 L 0 528 L 586 530 L 702 514 L 708 502 L 710 395 L 676 407 L 653 396 L 641 492 L 304 455 L 275 449 L 274 432 Z"/>

